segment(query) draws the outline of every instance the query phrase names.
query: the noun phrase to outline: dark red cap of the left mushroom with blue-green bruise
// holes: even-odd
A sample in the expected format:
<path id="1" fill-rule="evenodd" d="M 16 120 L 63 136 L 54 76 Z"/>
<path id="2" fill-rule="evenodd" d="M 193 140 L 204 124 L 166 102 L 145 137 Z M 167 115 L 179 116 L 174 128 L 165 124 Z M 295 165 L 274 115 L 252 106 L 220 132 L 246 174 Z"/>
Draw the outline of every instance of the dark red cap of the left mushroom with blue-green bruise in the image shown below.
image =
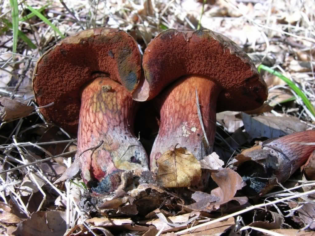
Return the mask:
<path id="1" fill-rule="evenodd" d="M 133 93 L 141 76 L 141 56 L 126 32 L 95 28 L 66 37 L 38 59 L 33 74 L 35 101 L 49 121 L 76 133 L 81 92 L 89 81 L 108 76 Z"/>

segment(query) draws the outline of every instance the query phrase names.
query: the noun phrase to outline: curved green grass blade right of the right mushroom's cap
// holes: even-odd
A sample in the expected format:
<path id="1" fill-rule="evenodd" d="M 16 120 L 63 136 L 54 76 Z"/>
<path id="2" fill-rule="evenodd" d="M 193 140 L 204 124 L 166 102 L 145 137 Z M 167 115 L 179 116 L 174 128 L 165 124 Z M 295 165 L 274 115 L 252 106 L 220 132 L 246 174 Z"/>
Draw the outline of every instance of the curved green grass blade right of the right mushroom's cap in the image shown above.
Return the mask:
<path id="1" fill-rule="evenodd" d="M 315 116 L 315 109 L 314 109 L 312 103 L 310 102 L 310 100 L 308 100 L 308 98 L 301 91 L 301 89 L 299 87 L 297 87 L 291 80 L 289 80 L 287 77 L 285 77 L 284 75 L 280 74 L 278 71 L 275 71 L 275 70 L 271 69 L 268 66 L 259 65 L 258 66 L 258 72 L 259 73 L 260 73 L 261 69 L 262 70 L 266 70 L 267 72 L 271 73 L 272 75 L 275 75 L 275 76 L 279 77 L 284 82 L 286 82 L 289 85 L 289 87 L 292 88 L 293 91 L 302 99 L 303 103 L 305 104 L 307 109 L 312 113 L 312 115 Z"/>

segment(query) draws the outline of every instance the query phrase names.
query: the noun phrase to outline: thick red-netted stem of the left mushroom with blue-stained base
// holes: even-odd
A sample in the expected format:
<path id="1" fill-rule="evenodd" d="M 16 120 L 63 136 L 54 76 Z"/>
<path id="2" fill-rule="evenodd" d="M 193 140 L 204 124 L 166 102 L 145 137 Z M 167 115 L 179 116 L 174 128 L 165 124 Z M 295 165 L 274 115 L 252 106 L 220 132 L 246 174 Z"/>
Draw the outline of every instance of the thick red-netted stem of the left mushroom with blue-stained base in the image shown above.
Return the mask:
<path id="1" fill-rule="evenodd" d="M 98 77 L 83 89 L 78 153 L 84 182 L 99 194 L 119 186 L 122 170 L 148 170 L 146 152 L 133 133 L 136 105 L 108 77 Z"/>

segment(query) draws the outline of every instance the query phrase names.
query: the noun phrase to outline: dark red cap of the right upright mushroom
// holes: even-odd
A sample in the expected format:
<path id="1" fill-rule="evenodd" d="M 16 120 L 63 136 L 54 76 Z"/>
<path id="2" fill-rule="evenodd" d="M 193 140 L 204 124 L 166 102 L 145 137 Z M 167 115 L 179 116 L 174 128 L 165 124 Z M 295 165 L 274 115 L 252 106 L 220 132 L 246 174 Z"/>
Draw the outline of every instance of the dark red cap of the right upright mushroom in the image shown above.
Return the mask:
<path id="1" fill-rule="evenodd" d="M 138 101 L 154 98 L 186 75 L 205 76 L 221 87 L 218 112 L 252 110 L 267 98 L 266 83 L 249 56 L 235 42 L 211 30 L 161 32 L 146 48 L 142 67 L 145 80 L 133 94 Z"/>

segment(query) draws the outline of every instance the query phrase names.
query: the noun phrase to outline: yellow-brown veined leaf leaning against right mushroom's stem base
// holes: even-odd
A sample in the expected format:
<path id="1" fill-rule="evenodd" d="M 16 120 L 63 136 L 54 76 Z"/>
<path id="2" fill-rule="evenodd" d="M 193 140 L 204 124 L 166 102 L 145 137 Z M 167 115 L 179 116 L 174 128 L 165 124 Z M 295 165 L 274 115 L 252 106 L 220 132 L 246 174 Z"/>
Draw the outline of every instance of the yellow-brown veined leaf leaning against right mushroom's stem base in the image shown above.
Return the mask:
<path id="1" fill-rule="evenodd" d="M 165 188 L 189 187 L 200 181 L 200 163 L 184 148 L 166 151 L 157 164 L 157 183 Z"/>

